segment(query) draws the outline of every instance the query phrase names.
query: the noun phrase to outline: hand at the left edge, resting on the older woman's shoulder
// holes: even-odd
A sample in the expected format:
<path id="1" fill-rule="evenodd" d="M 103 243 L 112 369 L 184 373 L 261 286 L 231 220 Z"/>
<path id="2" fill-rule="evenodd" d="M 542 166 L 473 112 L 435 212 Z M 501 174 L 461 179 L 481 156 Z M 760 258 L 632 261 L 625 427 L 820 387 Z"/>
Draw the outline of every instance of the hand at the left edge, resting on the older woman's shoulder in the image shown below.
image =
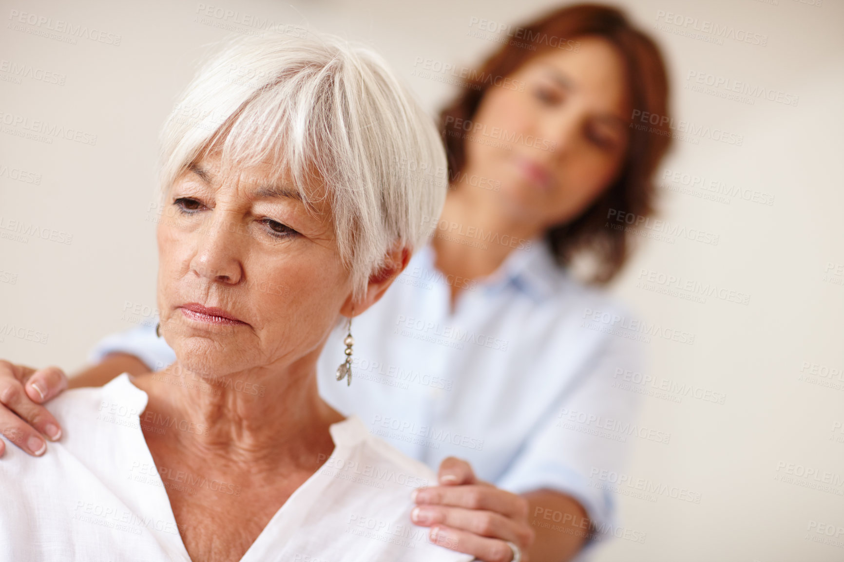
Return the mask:
<path id="1" fill-rule="evenodd" d="M 46 435 L 55 441 L 62 429 L 41 404 L 68 387 L 68 376 L 58 367 L 32 369 L 0 359 L 0 433 L 33 457 L 46 451 Z M 42 435 L 40 435 L 42 434 Z M 0 457 L 6 444 L 0 439 Z"/>

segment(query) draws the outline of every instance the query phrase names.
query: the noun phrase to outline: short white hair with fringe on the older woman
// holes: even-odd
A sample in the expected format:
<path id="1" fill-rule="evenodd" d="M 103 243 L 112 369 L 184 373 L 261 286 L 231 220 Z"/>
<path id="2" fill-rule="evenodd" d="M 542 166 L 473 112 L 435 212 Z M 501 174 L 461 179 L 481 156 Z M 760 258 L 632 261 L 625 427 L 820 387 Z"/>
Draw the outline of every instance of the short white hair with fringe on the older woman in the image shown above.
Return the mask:
<path id="1" fill-rule="evenodd" d="M 392 246 L 425 243 L 446 197 L 433 119 L 381 57 L 330 35 L 228 42 L 187 87 L 161 144 L 162 197 L 212 149 L 235 165 L 278 162 L 274 179 L 292 181 L 309 208 L 318 178 L 355 297 Z"/>

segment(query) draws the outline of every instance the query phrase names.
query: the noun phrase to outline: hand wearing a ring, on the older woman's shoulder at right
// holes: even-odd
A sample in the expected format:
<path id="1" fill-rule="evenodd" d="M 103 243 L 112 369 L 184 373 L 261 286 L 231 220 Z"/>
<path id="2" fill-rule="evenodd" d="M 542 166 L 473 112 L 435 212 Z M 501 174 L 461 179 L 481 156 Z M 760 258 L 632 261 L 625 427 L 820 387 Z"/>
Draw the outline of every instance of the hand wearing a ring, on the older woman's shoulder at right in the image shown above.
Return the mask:
<path id="1" fill-rule="evenodd" d="M 430 540 L 484 562 L 511 562 L 507 542 L 522 551 L 533 543 L 527 523 L 527 500 L 475 478 L 468 462 L 448 457 L 440 464 L 439 486 L 419 488 L 410 514 L 416 525 L 430 528 Z"/>

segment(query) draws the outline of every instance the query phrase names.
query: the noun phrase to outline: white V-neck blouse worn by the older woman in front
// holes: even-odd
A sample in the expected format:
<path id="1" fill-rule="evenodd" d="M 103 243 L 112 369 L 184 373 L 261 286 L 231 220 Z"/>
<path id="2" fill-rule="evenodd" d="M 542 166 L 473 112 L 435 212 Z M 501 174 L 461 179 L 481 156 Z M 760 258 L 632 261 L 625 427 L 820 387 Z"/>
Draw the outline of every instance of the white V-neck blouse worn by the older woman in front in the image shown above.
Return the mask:
<path id="1" fill-rule="evenodd" d="M 62 440 L 38 458 L 6 447 L 0 559 L 190 560 L 165 479 L 168 486 L 237 489 L 190 474 L 162 478 L 140 427 L 146 404 L 146 392 L 127 374 L 101 388 L 64 392 L 47 405 L 62 424 Z M 290 495 L 241 562 L 473 559 L 430 543 L 428 529 L 410 522 L 413 489 L 436 484 L 430 468 L 369 435 L 355 416 L 330 431 L 331 456 Z"/>

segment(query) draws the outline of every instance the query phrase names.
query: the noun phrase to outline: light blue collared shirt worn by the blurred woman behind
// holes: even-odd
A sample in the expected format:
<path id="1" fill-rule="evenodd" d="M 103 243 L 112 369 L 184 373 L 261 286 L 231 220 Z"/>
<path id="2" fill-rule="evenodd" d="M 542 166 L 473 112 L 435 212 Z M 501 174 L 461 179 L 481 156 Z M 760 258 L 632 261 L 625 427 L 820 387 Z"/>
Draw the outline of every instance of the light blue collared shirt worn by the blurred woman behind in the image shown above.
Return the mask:
<path id="1" fill-rule="evenodd" d="M 451 306 L 451 284 L 463 289 Z M 450 456 L 477 476 L 523 493 L 555 489 L 587 510 L 598 537 L 613 521 L 612 474 L 641 437 L 636 392 L 641 343 L 614 322 L 628 316 L 557 266 L 544 242 L 514 250 L 488 278 L 446 278 L 425 246 L 383 298 L 354 318 L 352 385 L 335 381 L 345 322 L 318 365 L 328 403 L 434 470 Z M 161 368 L 174 359 L 153 327 L 100 342 L 91 359 L 123 351 Z M 645 432 L 647 438 L 647 430 Z M 555 513 L 530 514 L 554 526 Z M 551 527 L 553 528 L 553 527 Z"/>

